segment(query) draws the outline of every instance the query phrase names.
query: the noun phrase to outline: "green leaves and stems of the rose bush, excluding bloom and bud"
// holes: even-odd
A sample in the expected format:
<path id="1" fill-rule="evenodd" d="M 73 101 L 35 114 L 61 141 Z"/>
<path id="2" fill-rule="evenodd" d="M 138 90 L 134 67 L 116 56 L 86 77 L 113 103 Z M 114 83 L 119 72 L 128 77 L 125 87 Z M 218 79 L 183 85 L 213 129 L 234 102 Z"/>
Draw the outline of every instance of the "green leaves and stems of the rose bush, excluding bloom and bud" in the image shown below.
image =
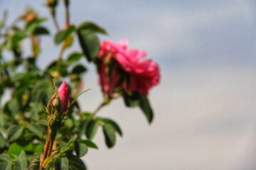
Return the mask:
<path id="1" fill-rule="evenodd" d="M 98 67 L 100 40 L 97 34 L 107 34 L 107 31 L 92 21 L 70 25 L 68 0 L 63 1 L 65 28 L 60 28 L 55 18 L 59 3 L 57 0 L 46 1 L 55 33 L 45 25 L 48 18 L 39 16 L 31 8 L 10 26 L 6 26 L 5 14 L 0 21 L 0 169 L 86 169 L 81 158 L 89 149 L 98 149 L 92 140 L 99 128 L 102 128 L 107 147 L 115 145 L 116 135 L 122 136 L 122 130 L 114 120 L 97 116 L 97 112 L 114 98 L 123 97 L 127 107 L 142 108 L 149 123 L 153 118 L 146 96 L 118 88 L 115 90 L 119 91 L 119 96 L 104 95 L 103 102 L 95 111 L 80 110 L 80 103 L 76 100 L 82 89 L 82 77 L 87 74 L 87 66 L 81 60 Z M 60 52 L 42 69 L 38 56 L 41 55 L 43 36 L 52 36 Z M 30 55 L 23 53 L 26 40 L 31 43 Z M 78 40 L 81 50 L 64 56 L 63 52 L 71 49 L 75 40 Z M 54 80 L 50 78 L 49 81 L 48 75 Z M 52 105 L 50 96 L 56 93 L 53 86 L 59 85 L 63 79 L 68 81 L 73 103 L 60 120 L 50 156 L 40 167 L 50 130 L 46 106 Z M 1 102 L 7 92 L 11 98 Z"/>

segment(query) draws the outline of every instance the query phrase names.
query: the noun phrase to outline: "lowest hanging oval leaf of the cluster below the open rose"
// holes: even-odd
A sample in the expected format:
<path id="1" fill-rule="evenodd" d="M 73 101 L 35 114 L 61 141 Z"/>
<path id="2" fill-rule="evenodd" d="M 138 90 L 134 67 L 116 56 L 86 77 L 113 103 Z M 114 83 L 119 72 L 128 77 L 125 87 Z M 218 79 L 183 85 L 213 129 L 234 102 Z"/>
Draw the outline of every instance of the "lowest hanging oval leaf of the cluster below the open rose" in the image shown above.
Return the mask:
<path id="1" fill-rule="evenodd" d="M 116 142 L 116 136 L 114 134 L 114 128 L 111 125 L 105 124 L 103 125 L 103 133 L 105 136 L 105 142 L 107 147 L 113 147 Z"/>

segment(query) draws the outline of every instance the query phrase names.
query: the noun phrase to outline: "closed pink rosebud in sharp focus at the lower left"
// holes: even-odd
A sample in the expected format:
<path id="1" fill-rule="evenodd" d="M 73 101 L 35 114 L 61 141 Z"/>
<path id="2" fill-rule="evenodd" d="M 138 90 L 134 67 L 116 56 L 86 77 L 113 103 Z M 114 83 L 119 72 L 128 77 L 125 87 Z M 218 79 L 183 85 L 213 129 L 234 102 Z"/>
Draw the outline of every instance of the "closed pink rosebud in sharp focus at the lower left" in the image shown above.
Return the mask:
<path id="1" fill-rule="evenodd" d="M 60 84 L 58 88 L 58 96 L 60 98 L 60 106 L 61 106 L 61 113 L 67 111 L 68 103 L 69 103 L 69 93 L 68 93 L 68 85 L 65 81 Z M 55 103 L 55 99 L 53 100 L 53 105 Z"/>

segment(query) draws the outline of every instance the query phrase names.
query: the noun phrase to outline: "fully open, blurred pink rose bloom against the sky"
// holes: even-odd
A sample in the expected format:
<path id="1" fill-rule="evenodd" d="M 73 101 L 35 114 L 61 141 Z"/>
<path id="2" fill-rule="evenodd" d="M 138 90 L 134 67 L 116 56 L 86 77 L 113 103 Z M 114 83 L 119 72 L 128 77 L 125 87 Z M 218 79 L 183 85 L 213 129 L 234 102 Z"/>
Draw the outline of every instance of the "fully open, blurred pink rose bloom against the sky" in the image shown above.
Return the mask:
<path id="1" fill-rule="evenodd" d="M 121 88 L 147 95 L 151 87 L 159 84 L 158 64 L 149 59 L 142 60 L 146 52 L 128 50 L 127 45 L 125 39 L 117 43 L 105 40 L 100 45 L 99 81 L 104 94 L 112 94 L 114 88 Z"/>

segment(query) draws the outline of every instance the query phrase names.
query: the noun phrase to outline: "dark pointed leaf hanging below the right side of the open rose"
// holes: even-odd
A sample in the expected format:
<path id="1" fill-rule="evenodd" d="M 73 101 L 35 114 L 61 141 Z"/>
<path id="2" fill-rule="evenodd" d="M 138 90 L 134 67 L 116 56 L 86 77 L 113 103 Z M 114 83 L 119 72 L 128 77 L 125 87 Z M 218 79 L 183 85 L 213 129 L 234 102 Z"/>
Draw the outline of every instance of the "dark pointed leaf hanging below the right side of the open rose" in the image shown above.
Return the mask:
<path id="1" fill-rule="evenodd" d="M 154 117 L 154 113 L 152 111 L 148 98 L 146 98 L 146 96 L 142 94 L 139 95 L 139 107 L 142 109 L 143 113 L 146 115 L 146 118 L 149 121 L 149 123 L 151 123 Z"/>

